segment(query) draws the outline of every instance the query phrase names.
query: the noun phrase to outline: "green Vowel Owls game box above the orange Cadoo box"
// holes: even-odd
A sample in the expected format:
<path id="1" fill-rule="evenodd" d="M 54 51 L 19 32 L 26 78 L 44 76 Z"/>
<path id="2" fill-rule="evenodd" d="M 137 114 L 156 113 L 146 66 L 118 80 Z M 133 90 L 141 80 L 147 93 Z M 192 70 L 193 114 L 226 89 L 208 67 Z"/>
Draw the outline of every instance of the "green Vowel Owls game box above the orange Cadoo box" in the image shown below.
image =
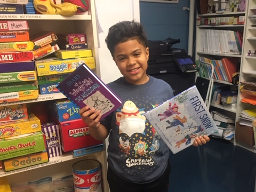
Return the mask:
<path id="1" fill-rule="evenodd" d="M 45 150 L 45 134 L 38 131 L 2 138 L 0 146 L 0 160 L 37 153 Z"/>

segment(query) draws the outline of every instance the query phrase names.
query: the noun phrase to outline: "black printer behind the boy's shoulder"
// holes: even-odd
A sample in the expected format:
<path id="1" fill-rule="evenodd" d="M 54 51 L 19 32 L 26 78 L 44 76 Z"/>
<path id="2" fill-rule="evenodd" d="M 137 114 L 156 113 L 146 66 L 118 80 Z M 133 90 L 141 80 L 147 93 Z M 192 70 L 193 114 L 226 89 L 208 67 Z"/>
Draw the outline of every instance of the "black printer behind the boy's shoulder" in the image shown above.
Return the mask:
<path id="1" fill-rule="evenodd" d="M 180 39 L 149 40 L 147 43 L 149 47 L 148 75 L 163 79 L 170 84 L 174 95 L 195 84 L 195 72 L 199 68 L 184 49 L 172 47 L 173 44 L 180 43 Z M 193 70 L 183 70 L 181 63 L 183 61 L 186 62 L 185 66 L 195 68 Z M 191 65 L 187 65 L 187 63 Z"/>

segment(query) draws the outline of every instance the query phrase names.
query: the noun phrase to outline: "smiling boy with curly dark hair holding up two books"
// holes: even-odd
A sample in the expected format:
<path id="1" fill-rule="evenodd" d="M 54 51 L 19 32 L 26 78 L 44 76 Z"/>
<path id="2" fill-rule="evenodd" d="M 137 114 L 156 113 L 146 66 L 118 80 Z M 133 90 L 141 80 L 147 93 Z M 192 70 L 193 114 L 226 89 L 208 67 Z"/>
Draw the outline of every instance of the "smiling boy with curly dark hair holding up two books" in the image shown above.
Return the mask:
<path id="1" fill-rule="evenodd" d="M 173 97 L 173 90 L 162 79 L 146 74 L 149 48 L 139 22 L 122 21 L 109 28 L 108 49 L 123 77 L 108 84 L 123 106 L 101 119 L 99 110 L 79 111 L 93 138 L 109 135 L 108 174 L 111 192 L 167 191 L 169 186 L 169 148 L 143 115 Z M 194 146 L 209 137 L 195 139 Z"/>

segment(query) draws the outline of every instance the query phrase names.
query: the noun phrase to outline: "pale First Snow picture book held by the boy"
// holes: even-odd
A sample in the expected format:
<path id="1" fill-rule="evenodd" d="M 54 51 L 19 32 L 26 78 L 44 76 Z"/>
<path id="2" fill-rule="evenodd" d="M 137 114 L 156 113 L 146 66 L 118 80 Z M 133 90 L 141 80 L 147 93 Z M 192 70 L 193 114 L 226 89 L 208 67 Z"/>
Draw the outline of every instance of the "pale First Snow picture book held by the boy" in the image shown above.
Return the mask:
<path id="1" fill-rule="evenodd" d="M 173 154 L 193 145 L 196 137 L 218 131 L 195 85 L 149 110 L 145 116 Z"/>

